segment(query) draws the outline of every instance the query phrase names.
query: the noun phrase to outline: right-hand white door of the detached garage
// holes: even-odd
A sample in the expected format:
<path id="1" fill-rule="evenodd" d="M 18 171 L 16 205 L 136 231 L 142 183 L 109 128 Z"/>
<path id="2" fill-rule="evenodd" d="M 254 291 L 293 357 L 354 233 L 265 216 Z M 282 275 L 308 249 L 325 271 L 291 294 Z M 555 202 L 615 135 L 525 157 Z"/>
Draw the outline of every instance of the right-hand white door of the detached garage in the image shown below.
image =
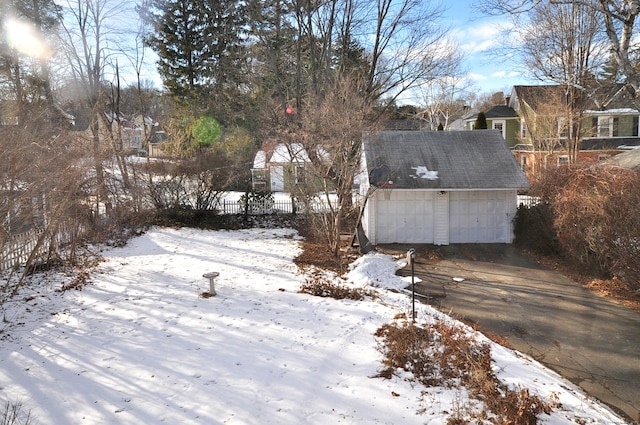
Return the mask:
<path id="1" fill-rule="evenodd" d="M 511 243 L 509 191 L 451 192 L 450 243 Z"/>

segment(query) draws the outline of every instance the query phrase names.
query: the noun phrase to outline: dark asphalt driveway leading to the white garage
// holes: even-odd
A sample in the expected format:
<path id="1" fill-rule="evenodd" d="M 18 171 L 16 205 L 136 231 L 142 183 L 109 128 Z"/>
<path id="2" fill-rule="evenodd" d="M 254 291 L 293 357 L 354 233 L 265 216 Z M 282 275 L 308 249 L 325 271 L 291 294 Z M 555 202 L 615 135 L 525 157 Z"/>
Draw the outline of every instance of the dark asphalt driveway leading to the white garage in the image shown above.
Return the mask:
<path id="1" fill-rule="evenodd" d="M 421 280 L 416 292 L 432 305 L 503 337 L 630 423 L 640 420 L 640 313 L 593 294 L 512 245 L 377 248 L 404 256 L 410 247 L 417 251 L 414 270 Z"/>

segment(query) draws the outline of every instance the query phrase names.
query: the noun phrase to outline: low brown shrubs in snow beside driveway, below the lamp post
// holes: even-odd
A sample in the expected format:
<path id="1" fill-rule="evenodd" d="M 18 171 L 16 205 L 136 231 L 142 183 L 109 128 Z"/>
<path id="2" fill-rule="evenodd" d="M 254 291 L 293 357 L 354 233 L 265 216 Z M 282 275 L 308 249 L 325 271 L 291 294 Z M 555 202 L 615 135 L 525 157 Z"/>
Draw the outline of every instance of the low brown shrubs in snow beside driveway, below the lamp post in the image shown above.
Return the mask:
<path id="1" fill-rule="evenodd" d="M 551 403 L 526 388 L 511 389 L 501 383 L 491 368 L 489 345 L 478 343 L 472 335 L 451 324 L 423 327 L 399 317 L 376 332 L 386 358 L 382 377 L 391 377 L 396 369 L 412 373 L 422 384 L 465 387 L 472 397 L 484 403 L 485 411 L 458 409 L 449 424 L 467 424 L 491 418 L 498 424 L 536 424 L 542 413 L 551 412 Z M 468 410 L 467 417 L 461 415 Z M 471 417 L 469 417 L 469 415 Z"/>

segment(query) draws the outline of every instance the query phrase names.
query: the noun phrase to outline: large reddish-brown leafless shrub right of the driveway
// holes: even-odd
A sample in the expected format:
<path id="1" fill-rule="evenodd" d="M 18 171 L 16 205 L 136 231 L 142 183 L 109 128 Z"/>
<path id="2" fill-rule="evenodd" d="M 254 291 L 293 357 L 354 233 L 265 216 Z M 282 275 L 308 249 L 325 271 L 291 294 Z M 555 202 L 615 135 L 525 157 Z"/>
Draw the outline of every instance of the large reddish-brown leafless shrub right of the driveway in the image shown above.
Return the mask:
<path id="1" fill-rule="evenodd" d="M 567 259 L 638 287 L 639 173 L 617 167 L 562 167 L 550 170 L 535 191 L 552 213 L 552 230 Z"/>

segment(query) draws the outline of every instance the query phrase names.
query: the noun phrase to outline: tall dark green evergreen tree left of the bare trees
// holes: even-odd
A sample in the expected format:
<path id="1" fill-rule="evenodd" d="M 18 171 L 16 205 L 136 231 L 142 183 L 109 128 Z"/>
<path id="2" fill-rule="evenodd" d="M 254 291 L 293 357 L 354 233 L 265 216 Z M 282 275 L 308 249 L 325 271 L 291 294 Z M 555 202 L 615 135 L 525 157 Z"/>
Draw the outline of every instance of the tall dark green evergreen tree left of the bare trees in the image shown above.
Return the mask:
<path id="1" fill-rule="evenodd" d="M 145 0 L 138 8 L 151 31 L 145 43 L 159 57 L 169 93 L 223 114 L 246 79 L 243 2 Z"/>

